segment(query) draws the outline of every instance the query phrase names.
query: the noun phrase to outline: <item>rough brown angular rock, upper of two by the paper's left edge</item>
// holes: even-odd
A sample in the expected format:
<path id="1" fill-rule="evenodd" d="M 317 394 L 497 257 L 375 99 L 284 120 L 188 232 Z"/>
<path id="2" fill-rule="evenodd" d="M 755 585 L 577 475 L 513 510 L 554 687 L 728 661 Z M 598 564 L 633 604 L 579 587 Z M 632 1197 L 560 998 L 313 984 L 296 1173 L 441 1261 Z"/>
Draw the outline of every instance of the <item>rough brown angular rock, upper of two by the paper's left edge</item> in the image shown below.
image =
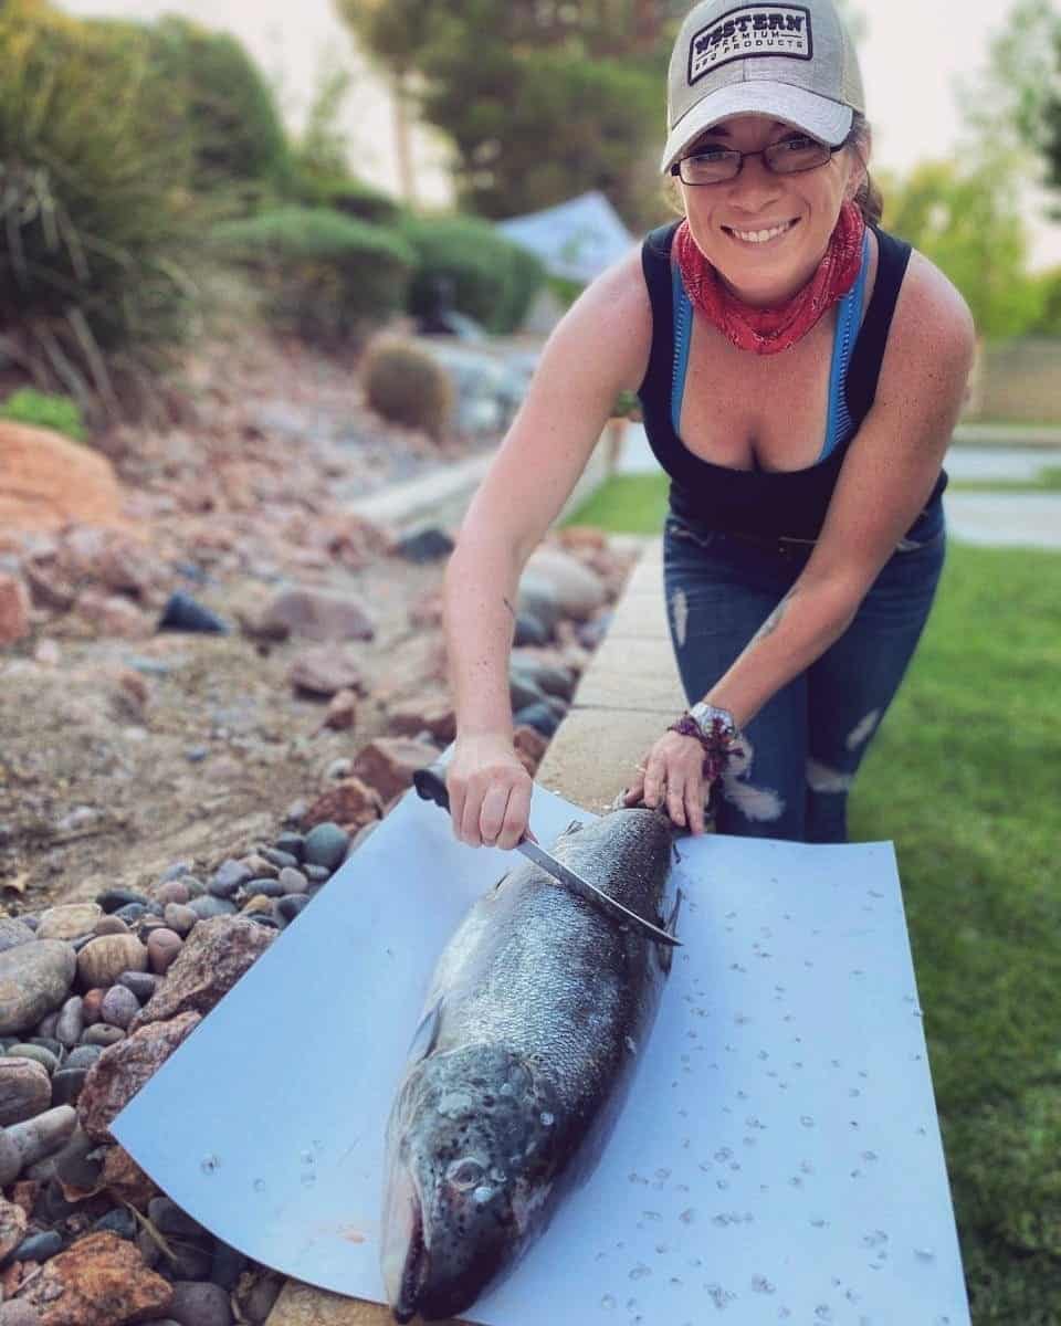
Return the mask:
<path id="1" fill-rule="evenodd" d="M 265 952 L 272 937 L 269 931 L 243 916 L 199 922 L 167 979 L 133 1020 L 131 1030 L 187 1010 L 208 1013 Z"/>

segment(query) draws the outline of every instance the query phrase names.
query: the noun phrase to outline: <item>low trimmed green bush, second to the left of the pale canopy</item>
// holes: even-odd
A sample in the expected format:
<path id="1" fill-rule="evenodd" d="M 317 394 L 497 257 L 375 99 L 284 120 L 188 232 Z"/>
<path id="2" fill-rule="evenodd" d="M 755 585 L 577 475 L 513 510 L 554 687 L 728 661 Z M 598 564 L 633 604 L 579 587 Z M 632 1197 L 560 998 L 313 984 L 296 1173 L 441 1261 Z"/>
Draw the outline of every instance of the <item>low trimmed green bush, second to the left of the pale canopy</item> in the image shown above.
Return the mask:
<path id="1" fill-rule="evenodd" d="M 285 207 L 215 231 L 256 278 L 275 321 L 309 341 L 357 341 L 405 305 L 412 251 L 394 233 L 328 208 Z"/>

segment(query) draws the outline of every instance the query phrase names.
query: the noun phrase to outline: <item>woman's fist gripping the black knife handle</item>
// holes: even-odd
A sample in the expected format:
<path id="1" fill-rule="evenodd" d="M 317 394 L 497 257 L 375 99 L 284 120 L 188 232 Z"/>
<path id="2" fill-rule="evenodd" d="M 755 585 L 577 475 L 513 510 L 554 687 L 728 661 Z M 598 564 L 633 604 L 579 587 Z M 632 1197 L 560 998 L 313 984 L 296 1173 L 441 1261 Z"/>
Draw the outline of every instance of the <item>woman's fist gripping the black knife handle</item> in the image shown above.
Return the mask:
<path id="1" fill-rule="evenodd" d="M 469 847 L 515 847 L 527 833 L 532 786 L 511 737 L 458 737 L 446 769 L 454 834 Z"/>

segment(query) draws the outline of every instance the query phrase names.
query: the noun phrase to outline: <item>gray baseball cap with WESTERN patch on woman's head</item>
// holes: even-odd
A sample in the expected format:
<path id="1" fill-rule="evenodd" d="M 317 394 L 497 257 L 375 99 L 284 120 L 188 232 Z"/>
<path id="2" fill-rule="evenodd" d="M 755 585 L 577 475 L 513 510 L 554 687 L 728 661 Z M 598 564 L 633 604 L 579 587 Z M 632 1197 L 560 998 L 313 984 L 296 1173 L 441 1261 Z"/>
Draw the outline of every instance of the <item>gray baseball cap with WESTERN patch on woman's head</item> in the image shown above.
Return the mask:
<path id="1" fill-rule="evenodd" d="M 865 114 L 854 44 L 833 0 L 704 0 L 686 16 L 667 76 L 666 174 L 728 115 L 771 115 L 836 146 Z"/>

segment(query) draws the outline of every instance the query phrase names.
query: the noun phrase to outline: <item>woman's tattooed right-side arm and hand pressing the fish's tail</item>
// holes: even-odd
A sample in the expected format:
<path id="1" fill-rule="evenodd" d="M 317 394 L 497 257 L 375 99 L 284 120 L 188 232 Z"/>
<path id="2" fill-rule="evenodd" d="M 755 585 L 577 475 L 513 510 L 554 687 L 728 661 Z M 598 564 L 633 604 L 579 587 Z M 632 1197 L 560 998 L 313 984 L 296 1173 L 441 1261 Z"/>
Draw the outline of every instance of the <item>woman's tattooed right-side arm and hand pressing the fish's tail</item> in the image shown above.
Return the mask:
<path id="1" fill-rule="evenodd" d="M 923 508 L 962 408 L 973 343 L 962 296 L 914 253 L 877 398 L 851 440 L 818 544 L 789 593 L 704 696 L 728 709 L 739 727 L 843 634 Z M 666 784 L 670 817 L 678 823 L 688 817 L 699 831 L 703 786 L 694 776 L 695 745 L 675 733 L 662 737 L 646 760 L 643 785 L 638 780 L 627 800 L 643 794 L 646 805 L 655 805 Z"/>

